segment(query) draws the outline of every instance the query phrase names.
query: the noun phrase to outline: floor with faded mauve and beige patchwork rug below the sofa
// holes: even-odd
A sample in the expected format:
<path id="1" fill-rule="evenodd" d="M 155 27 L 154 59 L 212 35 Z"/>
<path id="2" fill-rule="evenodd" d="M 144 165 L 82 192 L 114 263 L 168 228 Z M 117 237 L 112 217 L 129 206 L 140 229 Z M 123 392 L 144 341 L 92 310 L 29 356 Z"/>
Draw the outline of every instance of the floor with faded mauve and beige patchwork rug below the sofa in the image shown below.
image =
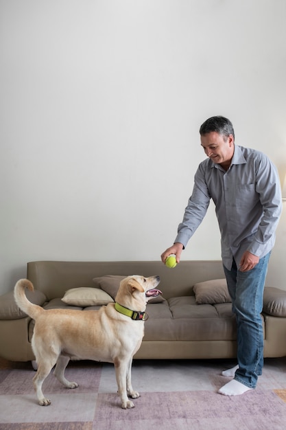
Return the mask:
<path id="1" fill-rule="evenodd" d="M 217 389 L 230 380 L 220 372 L 235 364 L 231 360 L 134 361 L 132 385 L 141 397 L 134 400 L 134 409 L 123 411 L 111 364 L 70 363 L 67 378 L 80 385 L 71 390 L 50 374 L 43 391 L 52 403 L 39 407 L 32 387 L 32 366 L 0 361 L 0 429 L 286 428 L 286 359 L 265 360 L 255 393 L 230 399 L 217 394 Z M 261 416 L 259 427 L 257 416 Z"/>

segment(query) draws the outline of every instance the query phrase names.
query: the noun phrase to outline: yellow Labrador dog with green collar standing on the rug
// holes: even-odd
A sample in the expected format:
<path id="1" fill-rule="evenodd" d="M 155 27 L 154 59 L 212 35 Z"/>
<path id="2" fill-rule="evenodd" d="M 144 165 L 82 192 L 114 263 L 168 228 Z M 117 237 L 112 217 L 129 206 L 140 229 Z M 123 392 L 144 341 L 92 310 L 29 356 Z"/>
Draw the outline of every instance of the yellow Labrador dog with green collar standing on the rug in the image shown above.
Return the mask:
<path id="1" fill-rule="evenodd" d="M 33 382 L 40 405 L 51 404 L 43 395 L 42 385 L 53 366 L 56 365 L 53 373 L 60 383 L 76 388 L 78 384 L 67 381 L 64 370 L 70 359 L 85 359 L 114 363 L 121 407 L 134 407 L 128 396 L 137 398 L 140 394 L 131 385 L 132 359 L 143 339 L 147 301 L 162 294 L 156 288 L 159 282 L 158 276 L 128 276 L 120 283 L 115 303 L 85 312 L 45 310 L 29 302 L 25 295 L 26 287 L 34 290 L 32 282 L 22 279 L 16 283 L 16 303 L 36 321 L 32 348 L 38 370 Z"/>

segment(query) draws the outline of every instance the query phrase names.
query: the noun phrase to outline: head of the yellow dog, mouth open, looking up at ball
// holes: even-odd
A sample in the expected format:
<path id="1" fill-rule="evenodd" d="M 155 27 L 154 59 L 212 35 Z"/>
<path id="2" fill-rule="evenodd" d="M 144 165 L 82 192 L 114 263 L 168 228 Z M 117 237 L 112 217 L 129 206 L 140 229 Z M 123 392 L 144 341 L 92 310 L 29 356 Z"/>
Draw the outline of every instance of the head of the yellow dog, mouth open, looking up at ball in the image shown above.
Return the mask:
<path id="1" fill-rule="evenodd" d="M 159 282 L 159 276 L 150 276 L 149 278 L 139 275 L 128 276 L 120 282 L 115 302 L 126 306 L 126 308 L 143 312 L 148 300 L 162 294 L 156 288 Z"/>

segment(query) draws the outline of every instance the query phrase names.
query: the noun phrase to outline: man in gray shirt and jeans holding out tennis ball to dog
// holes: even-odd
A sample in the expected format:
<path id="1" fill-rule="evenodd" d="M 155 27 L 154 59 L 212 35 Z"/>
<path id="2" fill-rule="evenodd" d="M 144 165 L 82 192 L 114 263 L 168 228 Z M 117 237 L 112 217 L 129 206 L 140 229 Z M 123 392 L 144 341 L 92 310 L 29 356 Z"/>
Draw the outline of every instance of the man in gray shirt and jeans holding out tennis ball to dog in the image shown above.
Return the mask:
<path id="1" fill-rule="evenodd" d="M 238 365 L 222 372 L 234 378 L 219 389 L 237 396 L 257 385 L 263 367 L 261 310 L 267 264 L 282 210 L 281 186 L 275 166 L 262 152 L 235 144 L 230 120 L 211 117 L 200 127 L 208 157 L 195 173 L 193 193 L 174 245 L 163 252 L 180 262 L 182 249 L 198 228 L 210 199 L 222 240 L 222 263 L 237 319 Z"/>

